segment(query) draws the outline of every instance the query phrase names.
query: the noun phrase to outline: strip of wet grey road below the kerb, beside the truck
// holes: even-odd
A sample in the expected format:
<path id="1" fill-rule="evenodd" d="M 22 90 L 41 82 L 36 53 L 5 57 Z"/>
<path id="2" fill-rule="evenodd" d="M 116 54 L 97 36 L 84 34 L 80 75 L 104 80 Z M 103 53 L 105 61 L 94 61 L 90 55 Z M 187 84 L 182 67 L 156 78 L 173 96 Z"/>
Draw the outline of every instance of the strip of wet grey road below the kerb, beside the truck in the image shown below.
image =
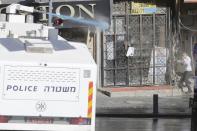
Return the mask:
<path id="1" fill-rule="evenodd" d="M 190 131 L 190 119 L 97 117 L 96 131 Z"/>

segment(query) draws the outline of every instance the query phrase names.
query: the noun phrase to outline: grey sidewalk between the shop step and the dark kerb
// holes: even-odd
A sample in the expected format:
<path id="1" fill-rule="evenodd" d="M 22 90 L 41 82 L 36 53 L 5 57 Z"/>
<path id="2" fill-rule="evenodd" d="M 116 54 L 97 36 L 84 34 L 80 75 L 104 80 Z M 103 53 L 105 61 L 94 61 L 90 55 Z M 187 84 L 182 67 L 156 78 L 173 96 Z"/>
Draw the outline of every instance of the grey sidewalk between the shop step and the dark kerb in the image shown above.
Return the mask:
<path id="1" fill-rule="evenodd" d="M 97 114 L 151 114 L 153 112 L 153 96 L 147 95 L 112 95 L 107 96 L 97 91 Z M 127 92 L 128 93 L 128 92 Z M 151 93 L 150 93 L 151 94 Z M 193 95 L 159 95 L 159 114 L 190 115 L 189 98 Z"/>

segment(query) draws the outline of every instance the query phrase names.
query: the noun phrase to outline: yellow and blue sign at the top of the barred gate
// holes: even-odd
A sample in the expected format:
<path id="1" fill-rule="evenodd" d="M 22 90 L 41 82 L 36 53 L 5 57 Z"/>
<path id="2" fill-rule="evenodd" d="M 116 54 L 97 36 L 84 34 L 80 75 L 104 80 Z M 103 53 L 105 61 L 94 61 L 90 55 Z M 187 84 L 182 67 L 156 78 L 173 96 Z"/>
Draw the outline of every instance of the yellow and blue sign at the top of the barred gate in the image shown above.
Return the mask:
<path id="1" fill-rule="evenodd" d="M 156 10 L 157 7 L 153 3 L 131 2 L 131 14 L 151 14 Z"/>

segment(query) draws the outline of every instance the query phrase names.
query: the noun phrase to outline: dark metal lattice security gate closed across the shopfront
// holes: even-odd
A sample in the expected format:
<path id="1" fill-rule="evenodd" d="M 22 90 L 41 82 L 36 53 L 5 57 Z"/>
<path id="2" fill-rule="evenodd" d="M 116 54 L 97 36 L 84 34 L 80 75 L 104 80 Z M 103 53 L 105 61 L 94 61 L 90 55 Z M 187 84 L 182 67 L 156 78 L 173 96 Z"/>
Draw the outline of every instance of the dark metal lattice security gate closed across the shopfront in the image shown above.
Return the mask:
<path id="1" fill-rule="evenodd" d="M 103 86 L 166 84 L 167 14 L 114 15 L 104 33 Z M 128 48 L 134 55 L 127 57 Z"/>

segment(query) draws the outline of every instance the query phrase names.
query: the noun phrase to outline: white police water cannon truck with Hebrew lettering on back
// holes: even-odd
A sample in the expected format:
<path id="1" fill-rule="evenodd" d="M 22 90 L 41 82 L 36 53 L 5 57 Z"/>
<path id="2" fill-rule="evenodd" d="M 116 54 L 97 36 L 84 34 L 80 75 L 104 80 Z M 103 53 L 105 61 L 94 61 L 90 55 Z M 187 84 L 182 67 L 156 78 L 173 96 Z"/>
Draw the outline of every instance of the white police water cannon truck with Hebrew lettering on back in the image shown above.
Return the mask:
<path id="1" fill-rule="evenodd" d="M 96 64 L 88 48 L 33 23 L 33 12 L 12 4 L 0 14 L 0 130 L 94 131 Z"/>

